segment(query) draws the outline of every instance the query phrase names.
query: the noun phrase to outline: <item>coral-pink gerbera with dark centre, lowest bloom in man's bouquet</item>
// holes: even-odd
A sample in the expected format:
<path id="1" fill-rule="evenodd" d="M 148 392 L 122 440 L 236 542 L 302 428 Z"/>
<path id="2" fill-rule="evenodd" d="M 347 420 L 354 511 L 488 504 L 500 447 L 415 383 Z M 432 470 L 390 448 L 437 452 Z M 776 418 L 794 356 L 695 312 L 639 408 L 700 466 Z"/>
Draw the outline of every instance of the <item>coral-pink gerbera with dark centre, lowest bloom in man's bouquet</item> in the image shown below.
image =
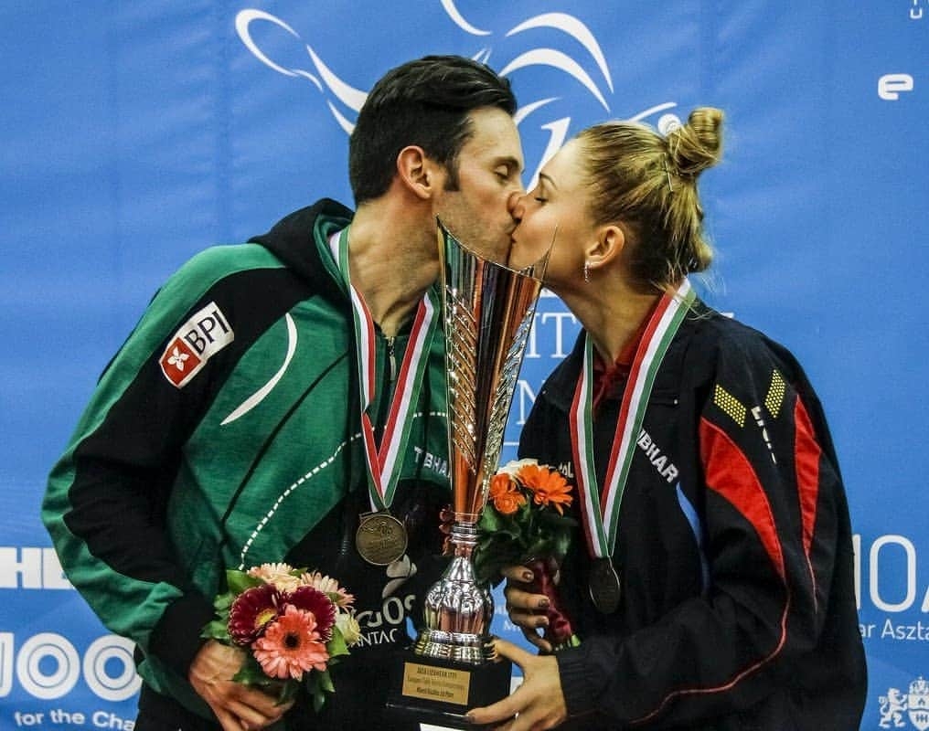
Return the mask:
<path id="1" fill-rule="evenodd" d="M 320 642 L 313 615 L 288 605 L 265 636 L 252 645 L 261 669 L 272 678 L 300 680 L 309 670 L 324 671 L 329 653 Z"/>

